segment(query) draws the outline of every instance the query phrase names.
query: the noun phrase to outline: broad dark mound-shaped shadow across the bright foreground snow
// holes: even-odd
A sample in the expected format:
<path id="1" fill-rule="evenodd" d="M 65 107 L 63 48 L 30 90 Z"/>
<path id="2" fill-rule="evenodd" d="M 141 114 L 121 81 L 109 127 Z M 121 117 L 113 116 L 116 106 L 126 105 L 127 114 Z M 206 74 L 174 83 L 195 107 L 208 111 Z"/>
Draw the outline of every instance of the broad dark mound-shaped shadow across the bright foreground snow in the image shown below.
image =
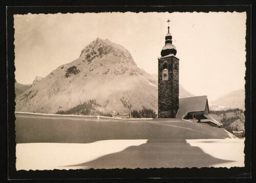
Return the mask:
<path id="1" fill-rule="evenodd" d="M 201 168 L 229 163 L 192 147 L 185 140 L 148 140 L 146 144 L 131 146 L 125 150 L 99 157 L 91 162 L 67 167 L 79 169 L 114 168 Z"/>

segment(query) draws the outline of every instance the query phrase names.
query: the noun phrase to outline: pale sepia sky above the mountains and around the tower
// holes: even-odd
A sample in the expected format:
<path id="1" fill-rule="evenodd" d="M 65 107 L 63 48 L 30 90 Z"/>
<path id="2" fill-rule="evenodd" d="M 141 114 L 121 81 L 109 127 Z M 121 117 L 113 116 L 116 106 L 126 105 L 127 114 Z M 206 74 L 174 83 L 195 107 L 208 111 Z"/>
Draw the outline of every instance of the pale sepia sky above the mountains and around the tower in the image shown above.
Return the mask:
<path id="1" fill-rule="evenodd" d="M 212 101 L 244 88 L 245 12 L 14 15 L 15 78 L 30 84 L 46 77 L 97 37 L 122 45 L 140 68 L 157 73 L 167 19 L 186 90 Z"/>

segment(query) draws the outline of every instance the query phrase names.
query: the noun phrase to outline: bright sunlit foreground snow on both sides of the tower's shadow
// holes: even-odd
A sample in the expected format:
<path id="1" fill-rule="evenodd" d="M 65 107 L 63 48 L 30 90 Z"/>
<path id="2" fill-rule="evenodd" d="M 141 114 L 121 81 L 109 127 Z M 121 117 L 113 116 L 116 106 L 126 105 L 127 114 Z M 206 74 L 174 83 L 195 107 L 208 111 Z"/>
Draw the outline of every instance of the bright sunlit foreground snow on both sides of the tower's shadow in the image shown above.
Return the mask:
<path id="1" fill-rule="evenodd" d="M 130 146 L 140 146 L 147 140 L 106 140 L 87 144 L 76 143 L 26 143 L 16 145 L 17 170 L 79 169 L 72 166 L 91 162 L 102 156 L 121 152 Z M 243 167 L 244 139 L 186 140 L 190 146 L 218 159 L 232 161 L 213 167 Z M 149 150 L 150 151 L 150 150 Z M 190 152 L 187 152 L 188 155 Z M 148 160 L 150 161 L 150 159 Z M 199 160 L 200 161 L 200 160 Z M 206 164 L 207 165 L 207 164 Z M 88 167 L 91 168 L 91 167 Z M 92 167 L 93 168 L 93 167 Z"/>

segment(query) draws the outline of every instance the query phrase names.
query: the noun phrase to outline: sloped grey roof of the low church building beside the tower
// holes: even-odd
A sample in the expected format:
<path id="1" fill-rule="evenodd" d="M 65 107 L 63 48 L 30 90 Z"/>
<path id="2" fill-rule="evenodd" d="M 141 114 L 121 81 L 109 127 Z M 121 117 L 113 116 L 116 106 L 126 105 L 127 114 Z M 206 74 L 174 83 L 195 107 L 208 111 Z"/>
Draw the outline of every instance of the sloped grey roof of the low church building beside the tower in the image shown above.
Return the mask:
<path id="1" fill-rule="evenodd" d="M 176 118 L 183 119 L 188 112 L 204 111 L 206 102 L 207 96 L 179 99 L 179 110 Z"/>

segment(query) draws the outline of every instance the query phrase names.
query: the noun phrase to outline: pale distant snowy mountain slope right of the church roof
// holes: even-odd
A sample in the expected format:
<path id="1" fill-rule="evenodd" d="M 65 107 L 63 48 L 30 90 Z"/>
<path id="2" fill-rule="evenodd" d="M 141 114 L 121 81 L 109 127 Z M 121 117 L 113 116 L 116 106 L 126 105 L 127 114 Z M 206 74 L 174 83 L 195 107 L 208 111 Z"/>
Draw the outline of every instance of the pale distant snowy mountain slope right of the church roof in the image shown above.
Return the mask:
<path id="1" fill-rule="evenodd" d="M 210 110 L 227 110 L 231 108 L 240 108 L 245 110 L 245 90 L 239 89 L 230 91 L 215 101 L 209 102 Z"/>

